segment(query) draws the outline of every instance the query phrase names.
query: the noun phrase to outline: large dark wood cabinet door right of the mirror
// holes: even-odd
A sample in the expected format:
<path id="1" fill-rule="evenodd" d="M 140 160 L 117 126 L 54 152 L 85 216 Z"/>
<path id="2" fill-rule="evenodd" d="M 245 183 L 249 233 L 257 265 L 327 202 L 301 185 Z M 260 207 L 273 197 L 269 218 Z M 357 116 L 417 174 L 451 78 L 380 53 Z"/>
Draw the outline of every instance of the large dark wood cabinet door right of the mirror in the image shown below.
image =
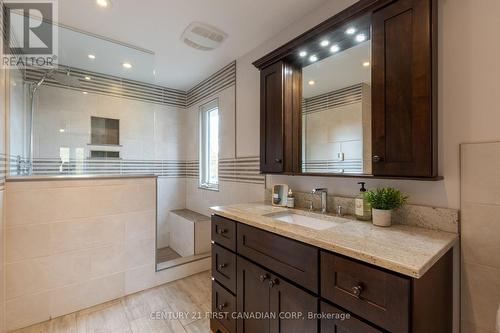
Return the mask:
<path id="1" fill-rule="evenodd" d="M 372 137 L 376 176 L 437 175 L 432 3 L 399 0 L 373 13 Z"/>

